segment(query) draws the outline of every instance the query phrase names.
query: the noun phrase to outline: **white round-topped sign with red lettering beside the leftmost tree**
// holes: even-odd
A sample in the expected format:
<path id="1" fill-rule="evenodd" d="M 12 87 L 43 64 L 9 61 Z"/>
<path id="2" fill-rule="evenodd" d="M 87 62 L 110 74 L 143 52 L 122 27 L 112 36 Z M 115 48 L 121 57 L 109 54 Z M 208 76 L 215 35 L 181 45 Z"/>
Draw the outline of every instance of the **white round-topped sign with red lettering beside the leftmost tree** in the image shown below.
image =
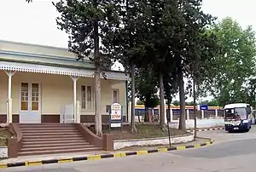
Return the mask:
<path id="1" fill-rule="evenodd" d="M 119 103 L 113 103 L 109 112 L 109 130 L 111 128 L 121 128 L 123 124 L 122 106 Z"/>

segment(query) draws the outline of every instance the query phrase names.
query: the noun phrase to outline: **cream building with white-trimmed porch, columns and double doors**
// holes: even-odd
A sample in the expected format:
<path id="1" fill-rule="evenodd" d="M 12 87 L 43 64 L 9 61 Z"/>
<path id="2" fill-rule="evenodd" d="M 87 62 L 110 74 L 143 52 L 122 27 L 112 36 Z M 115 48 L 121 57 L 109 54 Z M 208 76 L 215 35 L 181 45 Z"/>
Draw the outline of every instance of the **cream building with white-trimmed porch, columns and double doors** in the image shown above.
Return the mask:
<path id="1" fill-rule="evenodd" d="M 94 123 L 95 66 L 67 49 L 0 41 L 0 123 Z M 102 122 L 113 102 L 127 114 L 123 72 L 101 80 Z"/>

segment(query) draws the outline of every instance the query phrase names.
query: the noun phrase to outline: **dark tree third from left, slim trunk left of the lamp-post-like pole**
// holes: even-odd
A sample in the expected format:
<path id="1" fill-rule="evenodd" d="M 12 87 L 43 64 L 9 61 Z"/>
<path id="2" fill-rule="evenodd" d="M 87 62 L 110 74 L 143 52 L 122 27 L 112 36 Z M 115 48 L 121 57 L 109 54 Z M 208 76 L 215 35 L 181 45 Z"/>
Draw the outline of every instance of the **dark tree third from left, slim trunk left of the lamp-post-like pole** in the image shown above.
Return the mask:
<path id="1" fill-rule="evenodd" d="M 166 58 L 171 57 L 168 49 L 168 40 L 165 31 L 167 21 L 165 14 L 172 9 L 171 1 L 143 1 L 142 16 L 138 22 L 142 25 L 141 33 L 143 37 L 138 37 L 136 49 L 133 49 L 137 55 L 137 66 L 148 70 L 152 68 L 154 73 L 157 74 L 158 83 L 160 87 L 160 128 L 165 130 L 165 102 L 164 102 L 164 84 L 163 75 L 164 69 L 168 68 L 171 64 L 166 64 Z M 172 11 L 172 10 L 170 10 Z M 170 18 L 171 19 L 171 18 Z M 145 33 L 147 33 L 145 35 Z"/>

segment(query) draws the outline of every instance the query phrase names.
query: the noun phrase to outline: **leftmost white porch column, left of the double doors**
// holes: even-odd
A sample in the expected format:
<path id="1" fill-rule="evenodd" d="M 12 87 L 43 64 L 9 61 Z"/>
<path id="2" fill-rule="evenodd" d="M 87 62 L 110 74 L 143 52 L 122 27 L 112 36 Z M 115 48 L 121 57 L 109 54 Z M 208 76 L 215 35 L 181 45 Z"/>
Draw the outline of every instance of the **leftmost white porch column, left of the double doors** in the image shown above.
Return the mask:
<path id="1" fill-rule="evenodd" d="M 5 71 L 5 73 L 8 75 L 8 101 L 7 101 L 7 123 L 13 122 L 13 112 L 12 112 L 12 77 L 15 74 L 15 72 L 12 71 Z"/>

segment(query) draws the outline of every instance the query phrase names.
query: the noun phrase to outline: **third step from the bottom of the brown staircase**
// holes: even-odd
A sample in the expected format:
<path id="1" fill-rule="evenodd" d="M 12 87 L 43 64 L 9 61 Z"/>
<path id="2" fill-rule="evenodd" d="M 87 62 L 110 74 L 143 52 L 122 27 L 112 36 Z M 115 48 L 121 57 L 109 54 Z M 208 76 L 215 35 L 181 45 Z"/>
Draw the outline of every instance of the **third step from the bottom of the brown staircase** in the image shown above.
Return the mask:
<path id="1" fill-rule="evenodd" d="M 75 147 L 75 146 L 87 146 L 87 145 L 90 145 L 89 142 L 85 141 L 85 140 L 81 140 L 81 141 L 76 141 L 76 142 L 44 142 L 44 143 L 33 143 L 31 142 L 32 144 L 27 144 L 27 143 L 24 143 L 22 145 L 22 148 L 35 148 L 35 147 L 56 147 L 56 146 L 72 146 L 72 147 Z"/>

